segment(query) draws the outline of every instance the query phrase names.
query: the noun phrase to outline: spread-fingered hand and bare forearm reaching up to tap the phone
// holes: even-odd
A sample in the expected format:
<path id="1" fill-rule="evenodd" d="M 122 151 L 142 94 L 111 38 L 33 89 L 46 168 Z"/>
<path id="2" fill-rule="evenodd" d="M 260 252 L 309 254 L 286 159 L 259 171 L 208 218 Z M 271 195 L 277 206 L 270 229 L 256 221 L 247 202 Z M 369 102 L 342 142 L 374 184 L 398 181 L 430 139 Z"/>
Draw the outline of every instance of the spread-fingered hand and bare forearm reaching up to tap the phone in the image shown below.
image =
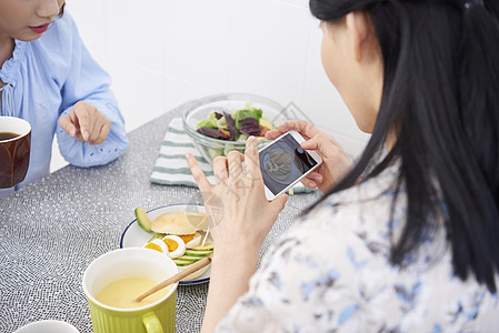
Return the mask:
<path id="1" fill-rule="evenodd" d="M 255 138 L 246 142 L 244 155 L 231 151 L 227 158 L 213 160 L 214 185 L 208 182 L 191 154 L 186 158 L 201 191 L 214 244 L 201 329 L 202 333 L 214 332 L 217 323 L 248 291 L 260 246 L 285 208 L 288 195 L 267 201 Z"/>

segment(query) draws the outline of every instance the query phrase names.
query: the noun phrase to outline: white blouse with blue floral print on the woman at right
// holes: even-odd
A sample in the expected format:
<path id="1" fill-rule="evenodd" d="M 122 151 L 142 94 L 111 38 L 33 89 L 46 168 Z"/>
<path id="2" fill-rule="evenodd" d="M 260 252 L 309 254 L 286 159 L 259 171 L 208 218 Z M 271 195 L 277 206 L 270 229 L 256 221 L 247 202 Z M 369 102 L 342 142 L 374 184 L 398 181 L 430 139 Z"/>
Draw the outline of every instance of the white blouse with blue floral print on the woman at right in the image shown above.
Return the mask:
<path id="1" fill-rule="evenodd" d="M 397 236 L 407 211 L 400 190 L 390 215 L 396 176 L 391 167 L 297 222 L 217 332 L 499 332 L 498 295 L 453 275 L 443 229 L 406 269 L 389 263 L 390 219 Z"/>

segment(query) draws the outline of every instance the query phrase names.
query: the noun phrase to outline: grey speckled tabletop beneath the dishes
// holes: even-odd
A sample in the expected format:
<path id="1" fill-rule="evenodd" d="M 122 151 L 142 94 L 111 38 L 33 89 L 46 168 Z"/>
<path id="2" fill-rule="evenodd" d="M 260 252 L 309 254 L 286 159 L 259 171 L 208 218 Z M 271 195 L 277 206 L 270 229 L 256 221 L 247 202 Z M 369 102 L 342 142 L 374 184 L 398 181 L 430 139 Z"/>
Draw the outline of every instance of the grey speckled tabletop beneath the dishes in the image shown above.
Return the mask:
<path id="1" fill-rule="evenodd" d="M 202 203 L 197 189 L 151 184 L 149 175 L 179 107 L 129 134 L 130 147 L 99 168 L 66 167 L 0 199 L 0 332 L 38 320 L 62 320 L 92 332 L 81 289 L 87 265 L 118 249 L 133 209 Z M 261 254 L 317 194 L 289 199 Z M 208 283 L 179 286 L 177 332 L 199 332 Z"/>

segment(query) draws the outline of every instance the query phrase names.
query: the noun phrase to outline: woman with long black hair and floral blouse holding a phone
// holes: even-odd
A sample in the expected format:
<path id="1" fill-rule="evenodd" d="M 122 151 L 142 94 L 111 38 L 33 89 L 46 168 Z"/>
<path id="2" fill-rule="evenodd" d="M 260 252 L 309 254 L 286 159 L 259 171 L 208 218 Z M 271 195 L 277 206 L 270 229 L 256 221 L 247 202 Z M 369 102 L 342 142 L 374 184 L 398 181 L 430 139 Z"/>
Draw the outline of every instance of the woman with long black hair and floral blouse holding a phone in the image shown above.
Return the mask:
<path id="1" fill-rule="evenodd" d="M 287 198 L 265 200 L 256 140 L 244 155 L 213 161 L 216 185 L 187 157 L 207 209 L 216 196 L 226 208 L 212 228 L 202 331 L 476 332 L 487 321 L 497 329 L 498 2 L 311 0 L 310 8 L 321 20 L 325 70 L 372 137 L 351 165 L 310 124 L 268 133 L 295 129 L 309 139 L 302 148 L 325 163 L 303 183 L 325 195 L 257 273 Z M 246 189 L 236 199 L 228 183 Z"/>

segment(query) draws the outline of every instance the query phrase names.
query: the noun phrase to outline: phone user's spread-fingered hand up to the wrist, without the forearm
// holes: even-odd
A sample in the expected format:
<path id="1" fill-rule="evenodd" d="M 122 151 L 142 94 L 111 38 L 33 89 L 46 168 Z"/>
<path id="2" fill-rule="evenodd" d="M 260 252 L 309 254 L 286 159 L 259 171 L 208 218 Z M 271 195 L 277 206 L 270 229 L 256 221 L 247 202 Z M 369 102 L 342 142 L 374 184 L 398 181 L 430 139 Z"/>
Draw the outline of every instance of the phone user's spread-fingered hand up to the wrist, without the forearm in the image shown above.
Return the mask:
<path id="1" fill-rule="evenodd" d="M 256 254 L 258 261 L 260 246 L 285 208 L 288 195 L 282 194 L 272 202 L 267 200 L 257 139 L 248 139 L 244 154 L 231 151 L 227 158 L 218 157 L 213 160 L 214 185 L 208 182 L 191 154 L 186 158 L 211 218 L 214 256 L 223 256 L 224 250 L 233 256 L 234 249 L 238 249 L 238 253 L 249 251 L 252 256 Z"/>

